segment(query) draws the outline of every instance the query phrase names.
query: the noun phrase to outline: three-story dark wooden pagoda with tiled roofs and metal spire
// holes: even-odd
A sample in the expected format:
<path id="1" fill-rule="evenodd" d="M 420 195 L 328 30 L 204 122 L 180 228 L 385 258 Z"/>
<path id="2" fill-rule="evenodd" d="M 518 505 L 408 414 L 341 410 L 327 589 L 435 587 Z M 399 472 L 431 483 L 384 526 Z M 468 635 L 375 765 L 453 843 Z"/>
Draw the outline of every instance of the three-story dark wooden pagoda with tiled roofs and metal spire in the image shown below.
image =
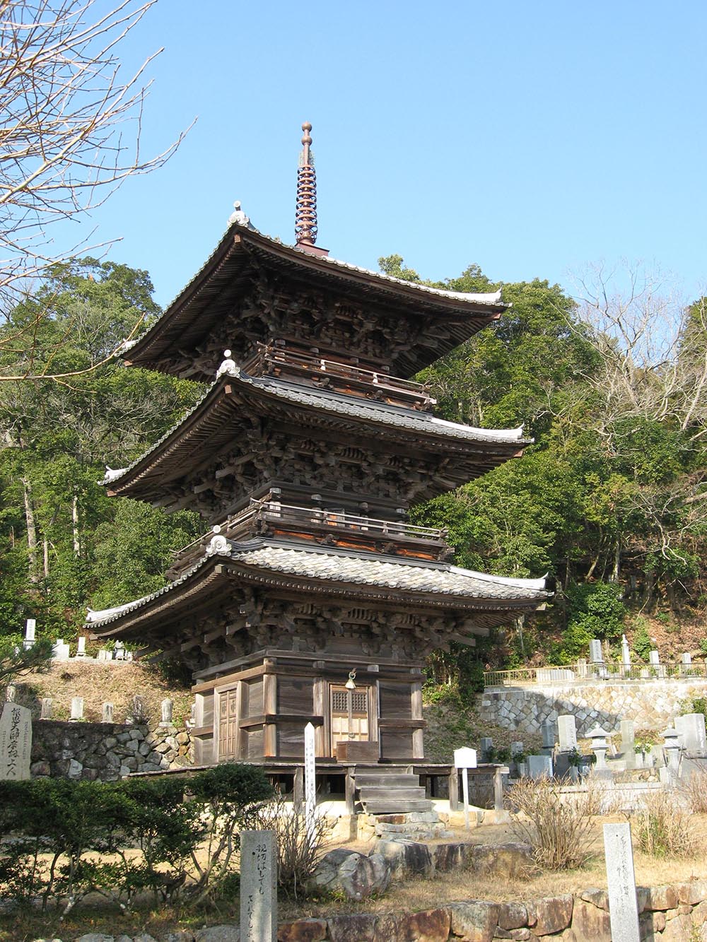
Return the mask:
<path id="1" fill-rule="evenodd" d="M 160 591 L 90 613 L 194 674 L 196 761 L 421 761 L 422 667 L 536 609 L 544 579 L 455 567 L 410 506 L 517 458 L 522 430 L 443 421 L 414 376 L 501 317 L 500 293 L 373 273 L 316 242 L 309 125 L 294 246 L 238 211 L 215 252 L 125 353 L 207 382 L 204 397 L 112 495 L 212 526 Z M 349 675 L 353 685 L 346 687 Z"/>

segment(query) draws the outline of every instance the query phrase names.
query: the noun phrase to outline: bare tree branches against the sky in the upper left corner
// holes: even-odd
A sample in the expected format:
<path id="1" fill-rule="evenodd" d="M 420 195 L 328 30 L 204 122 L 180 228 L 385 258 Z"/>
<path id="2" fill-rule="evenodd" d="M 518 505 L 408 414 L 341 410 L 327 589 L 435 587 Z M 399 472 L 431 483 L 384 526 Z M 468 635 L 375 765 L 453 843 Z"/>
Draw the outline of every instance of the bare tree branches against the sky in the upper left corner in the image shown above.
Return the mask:
<path id="1" fill-rule="evenodd" d="M 95 248 L 82 235 L 68 250 L 59 249 L 57 224 L 85 220 L 127 177 L 160 167 L 184 136 L 159 154 L 142 154 L 143 107 L 151 85 L 145 71 L 161 50 L 131 73 L 119 59 L 121 43 L 155 4 L 0 0 L 0 314 L 5 317 L 48 267 Z M 41 317 L 6 332 L 0 349 L 31 349 Z M 0 379 L 23 379 L 32 371 L 30 366 Z M 51 366 L 38 372 L 52 375 Z"/>

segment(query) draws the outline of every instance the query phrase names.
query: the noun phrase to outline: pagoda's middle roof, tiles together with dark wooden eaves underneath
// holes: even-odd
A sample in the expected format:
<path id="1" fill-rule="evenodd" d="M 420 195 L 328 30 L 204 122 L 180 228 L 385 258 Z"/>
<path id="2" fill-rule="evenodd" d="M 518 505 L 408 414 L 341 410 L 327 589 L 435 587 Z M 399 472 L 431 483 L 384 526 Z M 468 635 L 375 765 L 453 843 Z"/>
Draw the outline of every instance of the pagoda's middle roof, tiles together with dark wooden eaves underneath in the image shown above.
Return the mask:
<path id="1" fill-rule="evenodd" d="M 245 409 L 244 409 L 245 407 Z M 219 376 L 206 394 L 156 444 L 127 467 L 107 470 L 103 483 L 116 495 L 158 499 L 165 482 L 182 478 L 190 463 L 203 464 L 234 441 L 234 422 L 243 415 L 269 414 L 291 421 L 310 420 L 314 426 L 328 425 L 350 430 L 352 424 L 372 426 L 376 435 L 405 444 L 438 451 L 444 448 L 461 455 L 473 455 L 485 473 L 532 443 L 524 439 L 522 426 L 511 430 L 476 429 L 436 418 L 429 413 L 388 405 L 370 399 L 331 393 L 312 386 L 252 377 L 226 360 Z M 459 483 L 469 480 L 469 475 Z"/>

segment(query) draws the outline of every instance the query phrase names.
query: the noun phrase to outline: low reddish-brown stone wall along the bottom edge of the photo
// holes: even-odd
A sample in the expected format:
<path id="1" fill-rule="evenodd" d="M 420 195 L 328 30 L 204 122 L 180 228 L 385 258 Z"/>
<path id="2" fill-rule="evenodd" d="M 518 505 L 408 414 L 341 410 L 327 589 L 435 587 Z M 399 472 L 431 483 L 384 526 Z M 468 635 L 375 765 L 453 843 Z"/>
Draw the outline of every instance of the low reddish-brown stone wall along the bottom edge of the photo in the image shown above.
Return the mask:
<path id="1" fill-rule="evenodd" d="M 707 882 L 638 887 L 638 912 L 641 939 L 705 940 Z M 492 942 L 543 936 L 563 942 L 612 942 L 606 891 L 589 889 L 578 896 L 524 902 L 450 902 L 419 913 L 295 919 L 281 922 L 277 932 L 279 942 Z M 220 937 L 228 938 L 225 934 Z"/>

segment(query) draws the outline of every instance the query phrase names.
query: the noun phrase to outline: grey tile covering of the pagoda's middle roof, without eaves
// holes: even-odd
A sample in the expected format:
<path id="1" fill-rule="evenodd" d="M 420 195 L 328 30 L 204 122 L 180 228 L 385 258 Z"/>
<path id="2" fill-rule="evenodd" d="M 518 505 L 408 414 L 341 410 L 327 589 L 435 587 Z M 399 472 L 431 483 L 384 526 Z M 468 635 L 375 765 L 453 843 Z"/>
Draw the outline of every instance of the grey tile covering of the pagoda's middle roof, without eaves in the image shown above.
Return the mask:
<path id="1" fill-rule="evenodd" d="M 224 380 L 228 377 L 228 381 Z M 209 397 L 217 394 L 217 387 L 221 389 L 225 382 L 236 380 L 244 391 L 253 389 L 264 393 L 267 397 L 274 397 L 293 405 L 312 407 L 322 414 L 335 414 L 348 416 L 375 423 L 381 427 L 405 429 L 419 435 L 432 436 L 437 439 L 458 439 L 466 442 L 489 443 L 491 445 L 517 445 L 523 447 L 531 444 L 531 440 L 523 439 L 523 427 L 518 429 L 476 429 L 468 425 L 459 425 L 455 422 L 446 422 L 429 413 L 417 412 L 415 409 L 405 409 L 403 406 L 391 406 L 385 402 L 373 402 L 370 399 L 346 396 L 340 393 L 329 393 L 316 389 L 313 386 L 304 386 L 295 382 L 272 379 L 271 377 L 253 377 L 239 369 L 233 361 L 225 361 L 220 370 L 219 378 L 206 391 L 205 395 L 193 406 L 182 419 L 167 431 L 153 447 L 149 448 L 140 458 L 127 467 L 118 470 L 107 469 L 104 484 L 120 483 L 128 472 L 136 468 L 149 455 L 156 455 L 161 447 L 174 433 L 188 421 L 189 417 L 198 412 L 206 404 Z"/>

